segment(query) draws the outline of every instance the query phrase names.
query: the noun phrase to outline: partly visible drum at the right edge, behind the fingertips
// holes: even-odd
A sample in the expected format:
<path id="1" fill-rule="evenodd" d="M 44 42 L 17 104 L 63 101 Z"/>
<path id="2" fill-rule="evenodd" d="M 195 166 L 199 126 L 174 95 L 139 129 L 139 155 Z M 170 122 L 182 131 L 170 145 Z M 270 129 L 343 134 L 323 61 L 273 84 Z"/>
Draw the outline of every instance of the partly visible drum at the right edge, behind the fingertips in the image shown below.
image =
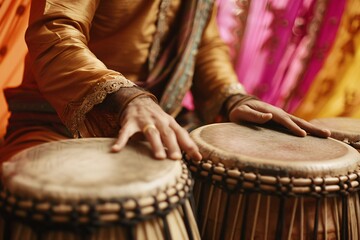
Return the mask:
<path id="1" fill-rule="evenodd" d="M 327 128 L 331 137 L 350 144 L 360 152 L 360 119 L 359 118 L 317 118 L 310 121 L 312 124 Z"/>

